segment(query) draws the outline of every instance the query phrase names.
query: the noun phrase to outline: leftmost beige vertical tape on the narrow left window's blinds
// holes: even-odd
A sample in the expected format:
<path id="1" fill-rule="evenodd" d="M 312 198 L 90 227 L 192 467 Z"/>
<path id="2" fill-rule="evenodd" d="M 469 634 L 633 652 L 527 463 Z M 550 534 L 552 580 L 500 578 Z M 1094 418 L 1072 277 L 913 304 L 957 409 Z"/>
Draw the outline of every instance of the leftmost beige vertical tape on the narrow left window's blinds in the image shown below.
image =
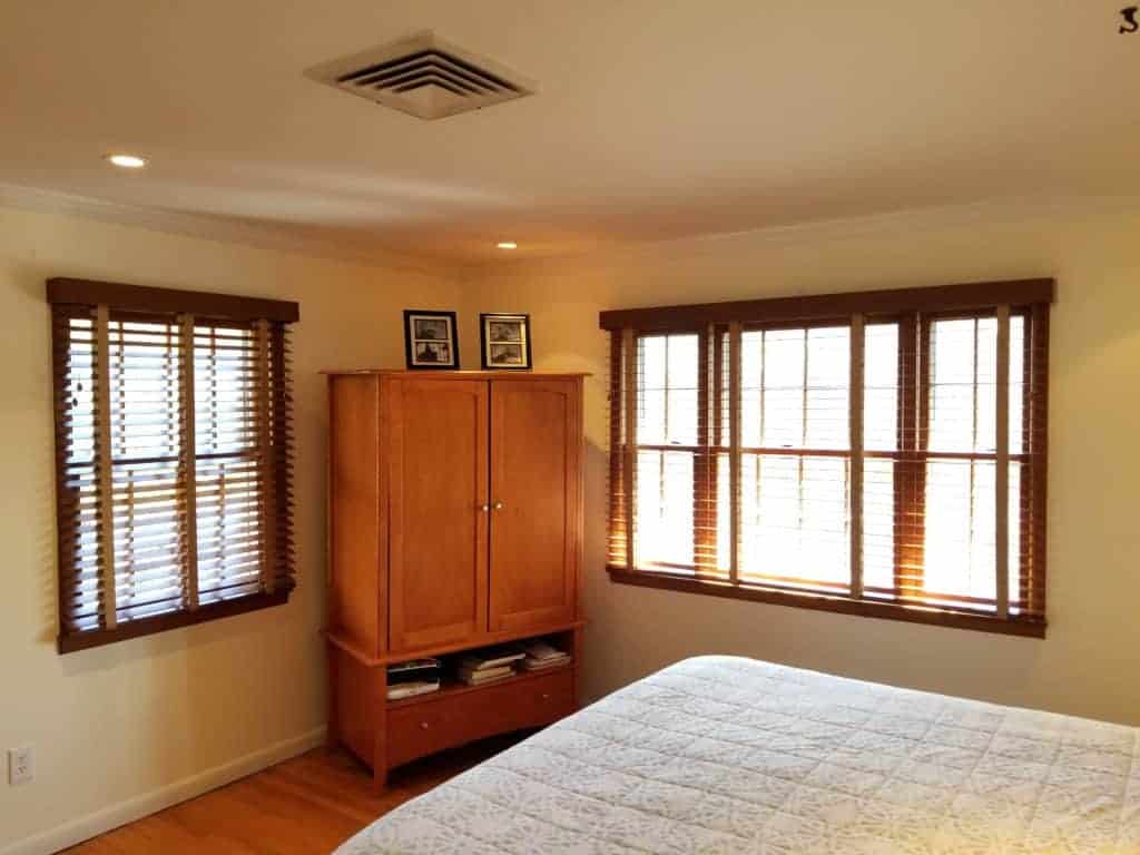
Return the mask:
<path id="1" fill-rule="evenodd" d="M 99 304 L 95 310 L 95 465 L 99 483 L 99 577 L 103 580 L 103 627 L 119 624 L 115 602 L 115 519 L 114 479 L 111 454 L 111 311 Z"/>

